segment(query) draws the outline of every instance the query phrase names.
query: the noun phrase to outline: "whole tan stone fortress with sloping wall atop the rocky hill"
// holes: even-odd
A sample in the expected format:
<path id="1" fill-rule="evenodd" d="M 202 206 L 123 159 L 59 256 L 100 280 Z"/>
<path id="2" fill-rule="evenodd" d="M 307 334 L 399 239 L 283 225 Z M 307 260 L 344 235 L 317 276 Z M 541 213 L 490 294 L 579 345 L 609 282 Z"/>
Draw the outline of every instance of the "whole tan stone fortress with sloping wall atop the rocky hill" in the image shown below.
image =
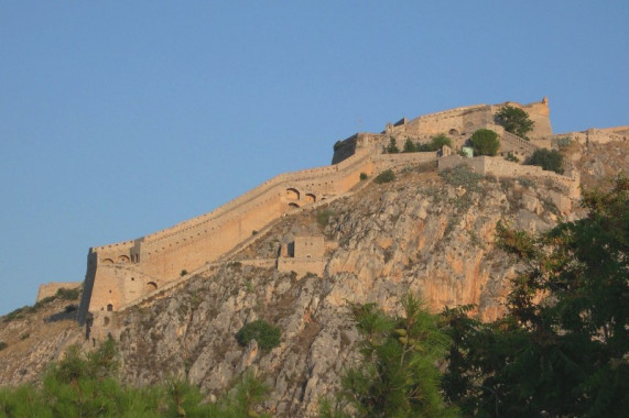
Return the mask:
<path id="1" fill-rule="evenodd" d="M 530 142 L 496 125 L 495 116 L 505 105 L 525 110 L 534 121 Z M 457 108 L 410 121 L 404 118 L 388 124 L 378 134 L 357 133 L 335 144 L 329 166 L 281 174 L 208 213 L 172 228 L 130 241 L 91 248 L 87 256 L 78 321 L 80 324 L 88 320 L 95 326 L 108 324 L 113 312 L 185 280 L 212 263 L 229 260 L 230 254 L 282 216 L 301 210 L 299 208 L 317 207 L 350 191 L 361 183 L 361 174 L 371 177 L 384 169 L 411 164 L 429 164 L 445 169 L 468 163 L 481 174 L 552 178 L 565 188 L 565 196 L 557 197 L 557 207 L 570 210 L 570 198 L 578 197 L 579 183 L 576 170 L 570 167 L 565 175 L 557 175 L 540 167 L 510 163 L 501 156 L 464 158 L 447 146 L 438 152 L 383 152 L 392 138 L 422 142 L 440 133 L 451 136 L 453 145 L 458 147 L 480 128 L 499 133 L 500 153 L 520 156 L 531 155 L 536 146 L 550 147 L 553 136 L 545 98 L 525 106 L 507 102 Z M 599 134 L 616 133 L 600 131 Z M 274 266 L 297 273 L 323 273 L 325 248 L 323 238 L 297 238 L 292 249 L 282 249 Z"/>

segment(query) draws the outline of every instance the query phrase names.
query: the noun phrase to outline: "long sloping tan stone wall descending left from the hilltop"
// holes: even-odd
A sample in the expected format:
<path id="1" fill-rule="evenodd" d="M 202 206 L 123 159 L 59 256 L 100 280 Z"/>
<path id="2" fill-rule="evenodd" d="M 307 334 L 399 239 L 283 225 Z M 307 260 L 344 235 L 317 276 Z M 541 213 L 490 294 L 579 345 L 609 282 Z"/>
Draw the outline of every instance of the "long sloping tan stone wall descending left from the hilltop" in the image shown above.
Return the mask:
<path id="1" fill-rule="evenodd" d="M 296 208 L 348 191 L 375 161 L 357 153 L 344 162 L 281 174 L 212 212 L 172 228 L 89 250 L 78 320 L 120 306 L 218 260 L 268 223 Z"/>

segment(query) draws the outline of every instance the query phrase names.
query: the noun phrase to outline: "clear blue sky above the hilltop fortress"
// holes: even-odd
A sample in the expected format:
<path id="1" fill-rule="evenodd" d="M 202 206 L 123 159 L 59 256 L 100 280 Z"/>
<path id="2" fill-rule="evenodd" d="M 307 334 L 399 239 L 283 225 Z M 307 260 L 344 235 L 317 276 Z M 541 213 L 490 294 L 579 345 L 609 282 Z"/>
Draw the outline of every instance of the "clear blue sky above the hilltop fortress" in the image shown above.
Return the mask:
<path id="1" fill-rule="evenodd" d="M 434 4 L 425 4 L 434 3 Z M 0 314 L 401 117 L 629 124 L 629 2 L 2 1 Z"/>

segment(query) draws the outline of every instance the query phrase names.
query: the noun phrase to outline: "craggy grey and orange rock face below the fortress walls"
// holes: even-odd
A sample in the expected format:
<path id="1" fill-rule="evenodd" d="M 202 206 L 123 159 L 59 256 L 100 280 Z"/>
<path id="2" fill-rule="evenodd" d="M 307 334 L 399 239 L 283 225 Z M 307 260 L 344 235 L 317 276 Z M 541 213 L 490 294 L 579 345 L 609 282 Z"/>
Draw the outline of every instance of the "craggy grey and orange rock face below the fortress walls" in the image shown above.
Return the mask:
<path id="1" fill-rule="evenodd" d="M 269 411 L 316 416 L 319 398 L 334 395 L 357 360 L 349 302 L 376 301 L 397 312 L 411 292 L 434 310 L 475 304 L 481 318 L 496 318 L 517 270 L 495 245 L 496 224 L 554 226 L 550 191 L 497 179 L 455 187 L 435 173 L 411 172 L 318 209 L 330 213 L 327 224 L 317 224 L 316 212 L 286 217 L 258 241 L 261 250 L 248 253 L 264 255 L 286 235 L 318 230 L 337 244 L 324 276 L 231 262 L 150 306 L 120 312 L 124 378 L 186 377 L 213 397 L 252 370 L 272 388 Z M 280 327 L 279 346 L 265 352 L 256 342 L 237 343 L 236 332 L 256 319 Z"/>

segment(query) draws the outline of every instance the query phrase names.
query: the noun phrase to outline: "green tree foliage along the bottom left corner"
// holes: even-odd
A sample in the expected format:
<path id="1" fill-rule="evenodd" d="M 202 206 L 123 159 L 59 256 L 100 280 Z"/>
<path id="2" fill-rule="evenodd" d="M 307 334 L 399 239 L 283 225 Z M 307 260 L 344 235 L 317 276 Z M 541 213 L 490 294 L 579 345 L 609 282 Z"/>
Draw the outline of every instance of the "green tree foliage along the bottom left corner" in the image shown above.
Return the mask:
<path id="1" fill-rule="evenodd" d="M 47 371 L 41 386 L 0 389 L 0 417 L 268 417 L 257 413 L 268 388 L 251 374 L 208 404 L 196 386 L 182 381 L 124 385 L 117 377 L 118 367 L 112 340 L 87 355 L 73 346 Z"/>

